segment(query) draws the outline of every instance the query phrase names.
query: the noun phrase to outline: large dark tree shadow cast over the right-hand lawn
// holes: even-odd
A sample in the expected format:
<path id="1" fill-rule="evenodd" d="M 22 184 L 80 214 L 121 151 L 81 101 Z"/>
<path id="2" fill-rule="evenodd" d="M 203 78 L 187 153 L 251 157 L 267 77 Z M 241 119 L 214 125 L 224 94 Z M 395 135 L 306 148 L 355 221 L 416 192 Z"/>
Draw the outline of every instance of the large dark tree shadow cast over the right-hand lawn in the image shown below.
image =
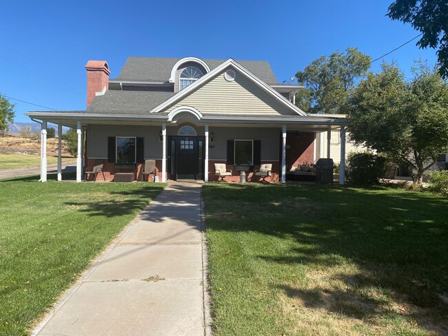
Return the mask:
<path id="1" fill-rule="evenodd" d="M 272 284 L 291 300 L 358 319 L 385 316 L 401 301 L 416 307 L 408 315 L 419 325 L 448 333 L 446 198 L 336 185 L 204 185 L 203 196 L 207 229 L 288 246 L 255 253 L 267 267 L 327 273 L 322 287 Z"/>

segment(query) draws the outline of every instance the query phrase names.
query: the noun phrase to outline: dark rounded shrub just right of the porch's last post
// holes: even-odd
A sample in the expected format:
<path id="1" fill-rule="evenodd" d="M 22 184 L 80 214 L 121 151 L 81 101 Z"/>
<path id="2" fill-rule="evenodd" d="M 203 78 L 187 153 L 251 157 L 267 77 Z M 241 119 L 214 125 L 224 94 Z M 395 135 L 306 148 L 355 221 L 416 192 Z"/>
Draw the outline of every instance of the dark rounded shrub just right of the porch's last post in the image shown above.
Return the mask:
<path id="1" fill-rule="evenodd" d="M 383 177 L 386 158 L 371 154 L 368 151 L 352 152 L 347 159 L 347 175 L 349 180 L 359 185 L 372 185 Z"/>

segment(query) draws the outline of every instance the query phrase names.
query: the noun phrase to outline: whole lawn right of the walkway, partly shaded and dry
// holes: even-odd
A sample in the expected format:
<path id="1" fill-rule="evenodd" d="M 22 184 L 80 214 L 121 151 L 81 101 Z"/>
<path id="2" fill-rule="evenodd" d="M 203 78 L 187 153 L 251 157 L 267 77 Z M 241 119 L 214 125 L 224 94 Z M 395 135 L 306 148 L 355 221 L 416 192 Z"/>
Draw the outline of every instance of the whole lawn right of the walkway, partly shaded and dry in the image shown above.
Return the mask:
<path id="1" fill-rule="evenodd" d="M 401 189 L 203 186 L 223 335 L 446 335 L 448 200 Z"/>

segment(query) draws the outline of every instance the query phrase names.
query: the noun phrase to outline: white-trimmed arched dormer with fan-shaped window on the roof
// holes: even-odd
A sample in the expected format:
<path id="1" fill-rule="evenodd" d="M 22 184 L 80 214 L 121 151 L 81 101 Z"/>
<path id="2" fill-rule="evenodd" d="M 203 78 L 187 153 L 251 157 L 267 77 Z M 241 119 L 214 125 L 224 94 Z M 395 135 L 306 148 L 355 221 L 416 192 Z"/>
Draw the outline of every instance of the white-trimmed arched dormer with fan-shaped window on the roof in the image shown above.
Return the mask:
<path id="1" fill-rule="evenodd" d="M 174 92 L 179 92 L 210 72 L 210 67 L 196 57 L 179 60 L 171 70 L 170 83 L 174 83 Z"/>

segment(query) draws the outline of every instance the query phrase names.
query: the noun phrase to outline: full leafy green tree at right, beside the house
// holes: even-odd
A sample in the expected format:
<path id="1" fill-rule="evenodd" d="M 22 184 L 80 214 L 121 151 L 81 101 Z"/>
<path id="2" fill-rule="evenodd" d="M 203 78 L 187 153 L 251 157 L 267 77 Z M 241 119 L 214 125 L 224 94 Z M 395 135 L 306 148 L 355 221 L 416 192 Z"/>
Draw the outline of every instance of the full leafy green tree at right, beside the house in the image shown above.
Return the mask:
<path id="1" fill-rule="evenodd" d="M 350 98 L 349 134 L 357 144 L 387 154 L 413 171 L 414 182 L 448 145 L 448 86 L 435 69 L 416 63 L 414 78 L 383 63 Z"/>

